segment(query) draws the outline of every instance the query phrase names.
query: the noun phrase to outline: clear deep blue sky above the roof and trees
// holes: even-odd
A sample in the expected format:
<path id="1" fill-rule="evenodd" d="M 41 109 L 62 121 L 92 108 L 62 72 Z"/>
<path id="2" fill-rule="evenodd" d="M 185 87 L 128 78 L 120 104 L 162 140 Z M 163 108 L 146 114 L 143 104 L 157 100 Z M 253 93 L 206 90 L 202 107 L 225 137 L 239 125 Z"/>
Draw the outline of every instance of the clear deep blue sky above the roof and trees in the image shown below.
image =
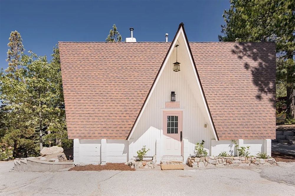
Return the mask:
<path id="1" fill-rule="evenodd" d="M 105 41 L 113 24 L 137 41 L 172 41 L 183 22 L 189 41 L 218 41 L 222 14 L 229 0 L 42 0 L 0 1 L 0 68 L 6 68 L 11 31 L 21 33 L 26 53 L 32 50 L 51 59 L 58 41 Z"/>

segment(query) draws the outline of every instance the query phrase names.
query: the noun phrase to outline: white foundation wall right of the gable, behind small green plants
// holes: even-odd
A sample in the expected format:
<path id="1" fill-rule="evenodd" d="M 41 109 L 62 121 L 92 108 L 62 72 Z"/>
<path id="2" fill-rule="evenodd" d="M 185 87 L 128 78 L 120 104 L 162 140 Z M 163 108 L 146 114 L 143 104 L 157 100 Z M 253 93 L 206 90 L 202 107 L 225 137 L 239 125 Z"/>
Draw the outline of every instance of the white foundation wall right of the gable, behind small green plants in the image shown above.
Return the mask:
<path id="1" fill-rule="evenodd" d="M 257 153 L 267 153 L 271 156 L 271 140 L 236 140 L 239 146 L 250 146 L 249 152 L 251 156 L 256 156 Z M 211 141 L 211 156 L 218 156 L 221 152 L 227 152 L 231 156 L 238 156 L 238 151 L 235 144 L 231 140 Z"/>

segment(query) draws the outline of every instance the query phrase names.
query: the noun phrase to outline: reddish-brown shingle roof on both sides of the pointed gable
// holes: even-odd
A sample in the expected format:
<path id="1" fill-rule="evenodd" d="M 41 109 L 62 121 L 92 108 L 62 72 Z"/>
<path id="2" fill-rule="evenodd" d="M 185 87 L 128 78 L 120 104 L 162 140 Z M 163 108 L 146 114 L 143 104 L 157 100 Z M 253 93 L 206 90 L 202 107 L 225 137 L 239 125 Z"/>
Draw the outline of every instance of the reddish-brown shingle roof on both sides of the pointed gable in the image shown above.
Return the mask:
<path id="1" fill-rule="evenodd" d="M 126 139 L 171 43 L 59 42 L 68 137 Z M 221 140 L 275 137 L 275 44 L 189 43 Z"/>

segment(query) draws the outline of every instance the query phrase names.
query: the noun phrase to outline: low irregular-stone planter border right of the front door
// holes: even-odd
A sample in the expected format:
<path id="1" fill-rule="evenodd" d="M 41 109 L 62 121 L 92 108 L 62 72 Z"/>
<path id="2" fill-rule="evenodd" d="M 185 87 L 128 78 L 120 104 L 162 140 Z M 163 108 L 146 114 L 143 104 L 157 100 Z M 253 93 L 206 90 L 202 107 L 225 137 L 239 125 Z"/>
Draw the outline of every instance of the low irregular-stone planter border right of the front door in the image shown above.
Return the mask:
<path id="1" fill-rule="evenodd" d="M 259 159 L 256 157 L 221 157 L 221 156 L 207 156 L 207 157 L 189 157 L 188 164 L 192 168 L 212 167 L 212 166 L 238 166 L 240 164 L 247 165 L 277 165 L 276 160 L 273 158 Z"/>

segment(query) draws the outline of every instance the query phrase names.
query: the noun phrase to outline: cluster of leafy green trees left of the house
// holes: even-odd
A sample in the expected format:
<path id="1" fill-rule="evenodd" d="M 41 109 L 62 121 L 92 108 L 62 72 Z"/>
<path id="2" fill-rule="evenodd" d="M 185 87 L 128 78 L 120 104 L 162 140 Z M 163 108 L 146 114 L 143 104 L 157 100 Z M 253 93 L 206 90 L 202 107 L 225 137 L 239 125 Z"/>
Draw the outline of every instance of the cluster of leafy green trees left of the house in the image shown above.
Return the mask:
<path id="1" fill-rule="evenodd" d="M 16 43 L 11 45 L 19 47 Z M 63 142 L 71 146 L 72 141 L 67 139 L 58 47 L 53 48 L 50 62 L 46 56 L 37 56 L 31 51 L 30 55 L 12 56 L 16 53 L 11 51 L 15 50 L 8 50 L 11 63 L 0 73 L 0 99 L 3 102 L 0 143 L 12 146 L 14 157 L 37 155 L 43 145 L 48 144 L 43 139 L 50 141 L 53 137 L 54 144 Z M 17 61 L 12 61 L 16 58 Z"/>

